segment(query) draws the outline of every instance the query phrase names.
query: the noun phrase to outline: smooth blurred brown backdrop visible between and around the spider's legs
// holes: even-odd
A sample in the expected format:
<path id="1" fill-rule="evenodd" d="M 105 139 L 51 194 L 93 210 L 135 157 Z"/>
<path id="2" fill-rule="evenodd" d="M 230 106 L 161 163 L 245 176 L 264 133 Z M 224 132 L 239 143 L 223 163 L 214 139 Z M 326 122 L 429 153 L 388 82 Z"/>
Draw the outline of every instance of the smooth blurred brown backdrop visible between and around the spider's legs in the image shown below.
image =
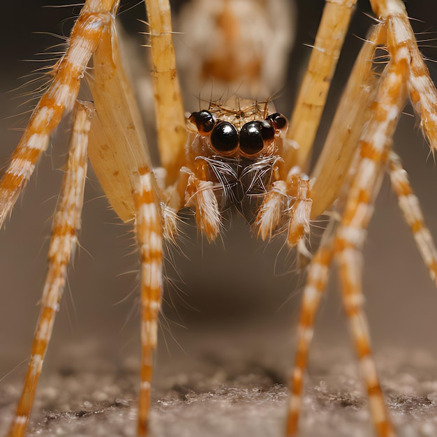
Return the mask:
<path id="1" fill-rule="evenodd" d="M 52 34 L 68 35 L 73 24 L 71 17 L 80 10 L 78 6 L 57 7 L 64 3 L 22 0 L 2 5 L 2 166 L 8 162 L 29 117 L 28 101 L 32 94 L 24 97 L 22 94 L 35 87 L 29 85 L 20 89 L 20 86 L 34 78 L 29 76 L 31 71 L 47 65 L 46 61 L 29 60 L 47 59 L 47 56 L 35 54 L 62 43 Z M 174 3 L 177 11 L 182 8 L 179 3 L 184 2 Z M 276 109 L 283 114 L 291 112 L 302 64 L 309 57 L 308 45 L 316 35 L 323 4 L 319 0 L 296 2 L 295 45 L 290 53 L 286 83 L 278 87 L 281 96 L 276 101 Z M 424 56 L 430 59 L 431 75 L 437 80 L 436 1 L 410 1 L 407 8 L 414 19 L 412 23 L 418 38 L 427 40 L 421 48 Z M 128 34 L 138 37 L 138 32 L 142 31 L 138 18 L 145 20 L 143 5 L 124 1 L 121 11 Z M 316 140 L 316 154 L 323 145 L 339 91 L 347 80 L 361 39 L 372 24 L 369 13 L 367 2 L 359 1 Z M 174 30 L 178 31 L 176 26 Z M 138 57 L 147 50 L 139 47 Z M 197 110 L 197 107 L 186 110 Z M 419 123 L 411 114 L 413 110 L 408 105 L 394 139 L 394 149 L 408 170 L 427 224 L 437 236 L 436 165 L 422 138 Z M 150 136 L 153 138 L 153 133 Z M 3 387 L 20 380 L 26 370 L 25 364 L 20 363 L 28 357 L 38 316 L 50 222 L 57 202 L 67 141 L 68 123 L 57 129 L 50 151 L 43 156 L 0 234 L 0 380 L 4 377 L 0 384 Z M 134 370 L 138 367 L 139 265 L 132 226 L 122 224 L 110 210 L 92 172 L 89 172 L 85 196 L 81 246 L 68 275 L 68 287 L 47 353 L 43 378 L 50 371 L 75 366 L 101 369 L 106 364 Z M 295 253 L 288 251 L 281 239 L 271 244 L 257 242 L 249 226 L 237 215 L 232 217 L 232 226 L 227 223 L 226 228 L 218 242 L 207 244 L 197 235 L 193 222 L 188 221 L 179 249 L 168 255 L 165 267 L 168 286 L 161 320 L 157 378 L 161 374 L 159 369 L 169 369 L 171 374 L 171 369 L 179 368 L 180 362 L 189 369 L 187 371 L 193 371 L 196 360 L 202 361 L 206 356 L 214 357 L 221 364 L 227 360 L 259 362 L 277 371 L 280 380 L 286 374 L 295 348 L 294 329 L 304 285 L 304 275 L 297 271 Z M 320 230 L 315 228 L 315 232 L 320 235 Z M 314 245 L 317 244 L 318 237 L 314 239 Z M 417 350 L 426 350 L 437 363 L 437 290 L 415 249 L 411 232 L 403 222 L 387 180 L 381 188 L 369 228 L 363 278 L 365 309 L 376 356 L 384 356 L 391 348 L 400 350 L 404 358 Z M 333 350 L 353 356 L 335 269 L 332 269 L 320 309 L 313 344 L 315 358 L 311 365 L 323 365 L 324 357 Z"/>

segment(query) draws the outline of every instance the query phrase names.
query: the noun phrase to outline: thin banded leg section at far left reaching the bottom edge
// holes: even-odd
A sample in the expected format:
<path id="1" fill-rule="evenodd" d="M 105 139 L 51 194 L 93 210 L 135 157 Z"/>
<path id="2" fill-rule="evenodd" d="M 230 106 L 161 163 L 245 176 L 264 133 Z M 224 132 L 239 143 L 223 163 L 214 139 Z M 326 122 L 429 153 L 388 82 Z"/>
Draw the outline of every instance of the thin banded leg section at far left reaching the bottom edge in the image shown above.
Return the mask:
<path id="1" fill-rule="evenodd" d="M 74 115 L 68 168 L 64 175 L 61 197 L 54 214 L 52 239 L 48 254 L 48 272 L 45 277 L 43 297 L 38 324 L 31 348 L 24 387 L 17 412 L 8 436 L 24 436 L 29 415 L 34 403 L 36 385 L 43 369 L 43 360 L 52 336 L 54 318 L 59 311 L 59 302 L 66 283 L 68 264 L 77 243 L 80 230 L 80 214 L 87 175 L 87 143 L 91 126 L 91 112 L 85 105 L 77 103 Z"/>

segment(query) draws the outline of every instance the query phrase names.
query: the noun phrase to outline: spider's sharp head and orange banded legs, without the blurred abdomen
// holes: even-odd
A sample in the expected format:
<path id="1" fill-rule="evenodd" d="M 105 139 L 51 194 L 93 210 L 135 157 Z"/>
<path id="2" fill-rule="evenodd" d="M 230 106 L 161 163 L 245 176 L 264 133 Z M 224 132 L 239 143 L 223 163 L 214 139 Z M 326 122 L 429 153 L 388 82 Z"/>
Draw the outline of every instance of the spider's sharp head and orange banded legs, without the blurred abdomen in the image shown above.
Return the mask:
<path id="1" fill-rule="evenodd" d="M 161 7 L 163 3 L 160 2 Z M 337 27 L 345 32 L 353 3 L 327 3 L 324 17 L 332 21 L 322 24 L 320 32 L 325 32 L 328 37 Z M 158 16 L 154 11 L 156 6 L 152 1 L 147 2 L 152 35 L 158 25 L 154 22 Z M 339 105 L 339 116 L 334 119 L 332 133 L 328 135 L 325 148 L 311 172 L 309 152 L 327 93 L 329 80 L 326 78 L 332 75 L 330 68 L 334 68 L 335 64 L 333 62 L 332 67 L 324 70 L 320 56 L 324 57 L 329 51 L 330 43 L 335 45 L 342 38 L 334 38 L 332 42 L 325 37 L 316 40 L 313 53 L 317 61 L 316 64 L 314 60 L 310 61 L 310 72 L 306 76 L 307 80 L 313 77 L 315 82 L 309 87 L 309 94 L 299 95 L 296 115 L 292 117 L 288 133 L 285 117 L 269 110 L 268 102 L 248 103 L 239 98 L 232 105 L 229 102 L 211 102 L 205 110 L 193 112 L 186 127 L 179 90 L 168 93 L 170 85 L 176 83 L 175 70 L 173 67 L 170 71 L 167 67 L 161 70 L 159 64 L 164 60 L 167 65 L 173 65 L 172 50 L 165 52 L 163 59 L 160 59 L 163 52 L 155 54 L 154 71 L 162 71 L 156 80 L 165 76 L 169 79 L 165 84 L 156 85 L 157 101 L 165 101 L 166 94 L 170 94 L 172 101 L 162 113 L 157 111 L 158 121 L 164 121 L 163 127 L 158 126 L 158 137 L 165 133 L 173 135 L 173 138 L 159 142 L 161 163 L 166 170 L 163 177 L 162 173 L 152 171 L 147 154 L 138 146 L 145 144 L 139 126 L 140 117 L 126 88 L 110 25 L 118 3 L 110 0 L 85 3 L 73 29 L 71 48 L 54 68 L 53 85 L 34 112 L 24 140 L 0 183 L 4 221 L 34 169 L 37 151 L 47 147 L 49 135 L 64 109 L 72 111 L 75 107 L 71 158 L 64 177 L 64 192 L 54 216 L 54 237 L 50 246 L 50 267 L 40 325 L 34 339 L 24 397 L 19 403 L 10 435 L 24 434 L 54 313 L 59 308 L 66 265 L 76 239 L 75 228 L 80 226 L 83 189 L 80 187 L 84 183 L 87 162 L 84 149 L 88 138 L 93 144 L 90 149 L 91 163 L 105 193 L 124 221 L 135 220 L 140 246 L 142 379 L 139 435 L 147 434 L 149 425 L 151 357 L 156 346 L 156 319 L 162 293 L 162 239 L 175 239 L 177 212 L 182 207 L 194 207 L 198 228 L 208 240 L 214 240 L 223 226 L 223 211 L 246 200 L 255 203 L 251 222 L 255 235 L 270 239 L 276 233 L 283 233 L 288 244 L 296 246 L 300 257 L 308 261 L 311 258 L 307 243 L 310 220 L 336 202 L 329 227 L 308 267 L 299 322 L 297 360 L 288 384 L 291 394 L 286 434 L 292 436 L 297 433 L 302 375 L 313 334 L 313 318 L 326 286 L 327 269 L 332 258 L 336 258 L 346 313 L 369 391 L 373 424 L 379 436 L 394 435 L 376 376 L 361 309 L 360 251 L 364 231 L 371 218 L 374 196 L 380 187 L 380 175 L 387 170 L 422 258 L 435 279 L 437 262 L 434 243 L 405 179 L 401 162 L 391 151 L 391 138 L 409 94 L 420 114 L 421 126 L 431 147 L 435 147 L 437 94 L 415 45 L 403 3 L 398 0 L 374 0 L 371 6 L 378 17 L 377 24 L 358 55 L 344 94 L 345 100 Z M 169 13 L 165 18 L 169 19 Z M 160 38 L 166 47 L 170 47 L 169 29 L 161 30 Z M 154 38 L 151 38 L 152 50 L 160 44 L 159 38 Z M 85 40 L 87 44 L 84 44 Z M 326 47 L 321 47 L 325 44 Z M 376 47 L 385 47 L 390 57 L 380 71 L 375 71 L 370 61 L 377 61 Z M 77 54 L 73 61 L 71 53 L 75 50 Z M 82 79 L 91 55 L 94 56 L 94 64 L 92 77 L 88 79 L 96 110 L 92 105 L 75 103 L 79 80 L 72 78 Z M 80 64 L 76 64 L 76 56 L 81 59 Z M 335 59 L 335 56 L 327 58 Z M 115 60 L 113 65 L 112 59 Z M 121 112 L 114 111 L 111 105 L 114 103 L 117 103 L 114 108 L 121 108 Z M 305 108 L 309 108 L 311 113 L 305 112 Z M 175 113 L 171 114 L 172 111 Z M 110 134 L 105 135 L 102 131 L 109 131 Z M 187 131 L 190 147 L 184 157 Z M 124 151 L 117 147 L 124 146 L 126 142 L 133 145 L 133 156 L 115 160 L 121 161 L 121 166 L 117 163 L 117 167 L 112 168 L 115 161 L 108 159 L 108 144 L 109 150 L 120 157 Z M 77 153 L 75 158 L 74 151 Z M 309 176 L 305 172 L 309 172 Z M 108 174 L 119 182 L 105 178 Z M 244 182 L 245 179 L 248 181 Z M 55 286 L 57 283 L 60 286 Z M 53 296 L 50 296 L 50 288 L 55 291 Z"/>

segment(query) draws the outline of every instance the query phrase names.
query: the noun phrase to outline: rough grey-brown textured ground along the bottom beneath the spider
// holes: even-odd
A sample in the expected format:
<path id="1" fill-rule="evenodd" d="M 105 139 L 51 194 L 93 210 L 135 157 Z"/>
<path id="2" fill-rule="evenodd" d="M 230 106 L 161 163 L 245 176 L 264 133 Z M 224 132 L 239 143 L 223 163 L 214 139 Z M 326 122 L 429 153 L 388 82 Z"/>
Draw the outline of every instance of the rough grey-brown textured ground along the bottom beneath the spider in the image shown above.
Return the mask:
<path id="1" fill-rule="evenodd" d="M 225 343 L 216 343 L 225 346 Z M 205 344 L 203 345 L 205 347 Z M 182 354 L 158 371 L 152 436 L 281 436 L 286 391 L 283 364 L 244 358 Z M 77 354 L 75 354 L 77 355 Z M 314 355 L 304 399 L 302 435 L 372 436 L 356 363 L 344 353 Z M 334 364 L 336 362 L 336 364 Z M 43 378 L 29 436 L 132 436 L 135 434 L 138 362 L 115 366 L 70 362 Z M 401 437 L 437 435 L 436 360 L 392 350 L 378 365 L 394 424 Z M 10 420 L 17 387 L 0 392 L 0 434 Z"/>

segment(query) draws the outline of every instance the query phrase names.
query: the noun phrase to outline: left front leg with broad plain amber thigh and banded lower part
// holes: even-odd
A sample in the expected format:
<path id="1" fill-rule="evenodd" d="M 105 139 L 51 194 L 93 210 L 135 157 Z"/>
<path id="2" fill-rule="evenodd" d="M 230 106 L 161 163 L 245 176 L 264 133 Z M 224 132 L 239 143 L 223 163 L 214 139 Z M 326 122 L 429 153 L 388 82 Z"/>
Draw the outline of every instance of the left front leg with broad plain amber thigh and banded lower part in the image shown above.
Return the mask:
<path id="1" fill-rule="evenodd" d="M 163 292 L 163 233 L 176 233 L 175 215 L 162 205 L 140 114 L 119 61 L 117 34 L 108 26 L 94 54 L 89 87 L 97 117 L 90 132 L 90 161 L 115 211 L 135 220 L 141 265 L 141 375 L 138 435 L 149 429 L 153 353 Z M 161 207 L 162 206 L 162 207 Z"/>

